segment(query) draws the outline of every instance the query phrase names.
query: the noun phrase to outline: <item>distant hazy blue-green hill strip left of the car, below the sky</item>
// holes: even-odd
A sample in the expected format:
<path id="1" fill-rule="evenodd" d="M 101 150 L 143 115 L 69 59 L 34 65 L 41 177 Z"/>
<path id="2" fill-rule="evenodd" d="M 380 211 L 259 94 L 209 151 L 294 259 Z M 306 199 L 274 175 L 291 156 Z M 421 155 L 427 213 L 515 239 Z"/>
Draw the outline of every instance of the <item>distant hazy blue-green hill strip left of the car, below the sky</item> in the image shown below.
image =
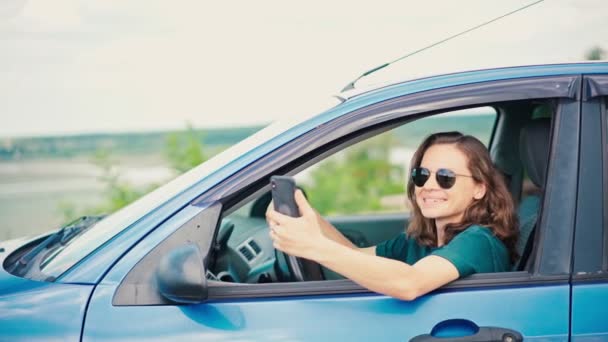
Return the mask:
<path id="1" fill-rule="evenodd" d="M 233 145 L 264 126 L 195 130 L 210 150 Z M 98 150 L 113 154 L 157 154 L 165 148 L 167 137 L 184 131 L 148 133 L 107 133 L 72 136 L 0 139 L 0 160 L 74 158 L 93 155 Z"/>

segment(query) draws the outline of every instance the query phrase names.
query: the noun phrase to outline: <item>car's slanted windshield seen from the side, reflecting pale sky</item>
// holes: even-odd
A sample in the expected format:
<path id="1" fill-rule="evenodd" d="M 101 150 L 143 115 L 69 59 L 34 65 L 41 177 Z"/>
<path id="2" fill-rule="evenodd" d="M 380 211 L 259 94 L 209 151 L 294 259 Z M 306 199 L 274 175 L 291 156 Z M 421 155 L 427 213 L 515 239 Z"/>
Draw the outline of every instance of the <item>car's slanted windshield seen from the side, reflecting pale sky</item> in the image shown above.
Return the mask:
<path id="1" fill-rule="evenodd" d="M 70 244 L 59 250 L 52 258 L 41 265 L 41 272 L 49 277 L 58 277 L 78 261 L 89 255 L 99 246 L 109 241 L 112 237 L 125 228 L 156 209 L 169 199 L 188 189 L 198 181 L 201 181 L 211 173 L 219 170 L 229 162 L 244 155 L 256 146 L 272 139 L 273 137 L 289 130 L 291 127 L 322 113 L 340 102 L 336 98 L 327 97 L 317 102 L 309 102 L 308 105 L 300 106 L 300 110 L 291 113 L 288 119 L 277 121 L 243 141 L 235 144 L 229 149 L 209 159 L 207 162 L 175 178 L 169 183 L 143 196 L 139 200 L 109 215 L 99 221 L 90 229 L 75 237 Z M 312 114 L 312 115 L 311 115 Z"/>

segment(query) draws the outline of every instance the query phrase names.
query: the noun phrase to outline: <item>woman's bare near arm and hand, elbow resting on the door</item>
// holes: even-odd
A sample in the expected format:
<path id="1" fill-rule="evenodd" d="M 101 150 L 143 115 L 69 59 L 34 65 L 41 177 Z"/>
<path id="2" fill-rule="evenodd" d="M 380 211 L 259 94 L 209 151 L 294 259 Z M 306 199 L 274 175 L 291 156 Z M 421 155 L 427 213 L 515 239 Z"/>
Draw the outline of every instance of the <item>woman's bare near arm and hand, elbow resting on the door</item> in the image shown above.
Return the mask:
<path id="1" fill-rule="evenodd" d="M 274 246 L 287 254 L 314 260 L 374 292 L 404 300 L 458 279 L 456 267 L 439 256 L 428 256 L 412 266 L 378 257 L 374 247 L 361 253 L 336 242 L 325 235 L 316 212 L 301 193 L 296 192 L 296 202 L 302 217 L 268 212 Z"/>

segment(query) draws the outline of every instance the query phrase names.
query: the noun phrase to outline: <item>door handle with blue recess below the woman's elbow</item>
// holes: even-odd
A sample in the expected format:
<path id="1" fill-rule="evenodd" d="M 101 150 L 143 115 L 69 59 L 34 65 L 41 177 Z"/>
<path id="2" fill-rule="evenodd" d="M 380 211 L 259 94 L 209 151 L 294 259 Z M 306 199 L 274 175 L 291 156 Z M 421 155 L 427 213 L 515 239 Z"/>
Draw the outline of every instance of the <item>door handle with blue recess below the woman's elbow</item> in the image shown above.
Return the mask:
<path id="1" fill-rule="evenodd" d="M 430 334 L 418 335 L 410 342 L 520 342 L 523 339 L 515 330 L 479 327 L 466 319 L 449 319 L 435 325 Z"/>

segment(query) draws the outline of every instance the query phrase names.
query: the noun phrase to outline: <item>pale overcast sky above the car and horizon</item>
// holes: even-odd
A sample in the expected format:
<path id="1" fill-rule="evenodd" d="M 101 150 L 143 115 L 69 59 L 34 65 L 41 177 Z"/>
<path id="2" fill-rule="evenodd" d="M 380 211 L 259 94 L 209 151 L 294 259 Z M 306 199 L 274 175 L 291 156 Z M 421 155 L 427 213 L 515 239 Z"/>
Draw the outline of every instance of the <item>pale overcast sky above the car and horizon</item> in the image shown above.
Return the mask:
<path id="1" fill-rule="evenodd" d="M 0 1 L 0 137 L 232 127 L 534 1 Z M 608 1 L 545 0 L 362 79 L 580 61 Z"/>

